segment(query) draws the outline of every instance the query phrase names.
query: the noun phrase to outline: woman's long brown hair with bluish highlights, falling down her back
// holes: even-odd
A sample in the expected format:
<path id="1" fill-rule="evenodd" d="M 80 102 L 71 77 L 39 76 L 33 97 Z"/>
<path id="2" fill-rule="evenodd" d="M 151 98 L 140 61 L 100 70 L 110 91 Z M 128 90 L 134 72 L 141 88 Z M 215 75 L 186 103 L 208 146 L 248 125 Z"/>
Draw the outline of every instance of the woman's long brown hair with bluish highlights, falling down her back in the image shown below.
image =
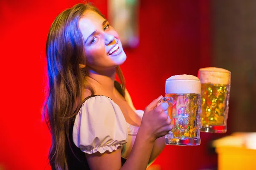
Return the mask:
<path id="1" fill-rule="evenodd" d="M 51 132 L 52 145 L 49 162 L 52 169 L 68 170 L 65 146 L 69 136 L 70 121 L 76 115 L 76 99 L 81 102 L 82 91 L 94 91 L 86 81 L 84 40 L 79 30 L 79 20 L 87 10 L 93 10 L 105 18 L 90 3 L 77 4 L 61 12 L 50 27 L 46 43 L 48 89 L 44 105 L 44 118 Z M 125 79 L 119 67 L 116 74 L 125 92 Z"/>

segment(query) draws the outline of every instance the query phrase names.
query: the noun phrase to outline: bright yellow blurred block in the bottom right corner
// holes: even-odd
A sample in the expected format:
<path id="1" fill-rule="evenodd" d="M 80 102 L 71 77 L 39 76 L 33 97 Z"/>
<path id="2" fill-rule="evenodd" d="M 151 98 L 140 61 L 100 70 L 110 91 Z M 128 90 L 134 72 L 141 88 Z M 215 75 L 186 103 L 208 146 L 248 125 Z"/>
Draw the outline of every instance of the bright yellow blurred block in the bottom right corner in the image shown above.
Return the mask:
<path id="1" fill-rule="evenodd" d="M 233 133 L 212 143 L 218 170 L 256 170 L 256 133 Z"/>

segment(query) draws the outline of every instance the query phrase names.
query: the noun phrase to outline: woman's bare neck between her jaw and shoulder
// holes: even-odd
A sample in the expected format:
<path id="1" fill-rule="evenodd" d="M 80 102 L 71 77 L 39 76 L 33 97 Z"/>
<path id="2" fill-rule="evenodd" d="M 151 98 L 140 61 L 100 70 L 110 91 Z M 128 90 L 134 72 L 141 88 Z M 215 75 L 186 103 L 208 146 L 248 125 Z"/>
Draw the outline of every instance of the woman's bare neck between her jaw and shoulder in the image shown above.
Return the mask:
<path id="1" fill-rule="evenodd" d="M 97 93 L 114 92 L 114 81 L 116 76 L 116 68 L 104 71 L 95 71 L 87 68 L 88 80 L 95 88 Z"/>

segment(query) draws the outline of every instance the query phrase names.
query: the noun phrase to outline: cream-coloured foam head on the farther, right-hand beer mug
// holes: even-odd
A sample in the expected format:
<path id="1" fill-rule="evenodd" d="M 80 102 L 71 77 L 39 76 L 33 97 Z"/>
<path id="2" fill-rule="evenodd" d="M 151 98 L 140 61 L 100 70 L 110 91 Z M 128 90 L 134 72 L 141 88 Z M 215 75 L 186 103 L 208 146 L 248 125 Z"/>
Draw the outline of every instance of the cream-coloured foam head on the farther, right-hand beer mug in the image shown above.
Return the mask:
<path id="1" fill-rule="evenodd" d="M 230 85 L 230 74 L 224 68 L 207 67 L 199 69 L 198 78 L 201 83 Z"/>

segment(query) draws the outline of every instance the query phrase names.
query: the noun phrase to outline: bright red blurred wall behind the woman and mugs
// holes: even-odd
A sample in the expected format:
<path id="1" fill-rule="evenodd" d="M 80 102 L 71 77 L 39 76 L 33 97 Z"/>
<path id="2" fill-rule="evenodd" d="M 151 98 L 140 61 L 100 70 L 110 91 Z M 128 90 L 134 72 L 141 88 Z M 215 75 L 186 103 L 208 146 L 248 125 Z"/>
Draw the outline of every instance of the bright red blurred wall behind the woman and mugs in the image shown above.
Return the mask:
<path id="1" fill-rule="evenodd" d="M 50 135 L 41 120 L 45 42 L 56 15 L 78 2 L 0 1 L 0 169 L 46 167 Z M 92 2 L 107 13 L 107 0 Z M 137 109 L 164 94 L 168 77 L 196 75 L 210 65 L 209 33 L 208 0 L 140 0 L 140 45 L 125 49 L 128 58 L 121 67 Z M 207 150 L 211 138 L 201 133 L 200 146 L 166 146 L 154 164 L 162 170 L 216 164 L 216 155 Z"/>

